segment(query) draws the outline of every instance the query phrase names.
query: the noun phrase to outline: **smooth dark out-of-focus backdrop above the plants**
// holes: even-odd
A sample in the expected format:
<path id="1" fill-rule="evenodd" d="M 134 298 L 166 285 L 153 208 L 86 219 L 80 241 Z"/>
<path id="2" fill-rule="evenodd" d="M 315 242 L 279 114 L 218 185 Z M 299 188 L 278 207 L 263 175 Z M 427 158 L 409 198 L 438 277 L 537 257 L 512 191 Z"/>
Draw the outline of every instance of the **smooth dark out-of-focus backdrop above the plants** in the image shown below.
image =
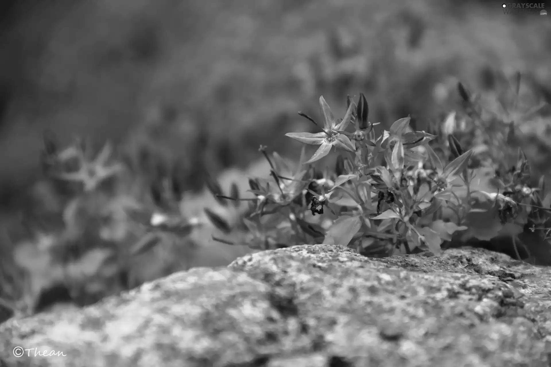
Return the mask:
<path id="1" fill-rule="evenodd" d="M 296 112 L 319 117 L 320 95 L 338 115 L 364 92 L 371 122 L 411 114 L 419 130 L 457 105 L 458 80 L 491 90 L 496 70 L 551 98 L 551 15 L 498 2 L 3 0 L 0 17 L 7 216 L 37 179 L 44 129 L 179 157 L 201 206 L 207 172 L 256 169 L 261 144 L 293 157 L 284 134 L 315 128 Z"/>

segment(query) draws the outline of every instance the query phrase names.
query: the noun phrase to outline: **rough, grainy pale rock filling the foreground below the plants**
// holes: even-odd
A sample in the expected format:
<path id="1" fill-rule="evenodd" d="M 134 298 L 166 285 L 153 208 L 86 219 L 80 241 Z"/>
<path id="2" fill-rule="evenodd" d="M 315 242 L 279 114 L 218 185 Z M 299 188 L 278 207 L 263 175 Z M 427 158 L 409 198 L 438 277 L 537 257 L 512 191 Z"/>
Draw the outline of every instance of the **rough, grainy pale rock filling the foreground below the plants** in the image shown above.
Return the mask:
<path id="1" fill-rule="evenodd" d="M 0 325 L 4 366 L 545 366 L 551 269 L 305 245 Z M 12 350 L 31 349 L 15 358 Z M 50 352 L 63 355 L 36 355 Z"/>

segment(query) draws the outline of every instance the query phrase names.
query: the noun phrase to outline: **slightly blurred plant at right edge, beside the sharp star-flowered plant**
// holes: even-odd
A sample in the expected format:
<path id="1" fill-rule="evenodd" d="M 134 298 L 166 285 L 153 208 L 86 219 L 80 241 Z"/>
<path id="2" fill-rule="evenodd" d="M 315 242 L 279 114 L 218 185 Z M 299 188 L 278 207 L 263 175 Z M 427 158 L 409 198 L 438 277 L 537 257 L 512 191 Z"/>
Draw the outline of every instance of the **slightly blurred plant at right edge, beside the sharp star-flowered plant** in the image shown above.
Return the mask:
<path id="1" fill-rule="evenodd" d="M 440 141 L 445 143 L 440 145 L 441 150 L 453 151 L 453 146 L 460 143 L 476 152 L 477 159 L 471 162 L 473 172 L 486 171 L 482 180 L 494 188 L 491 192 L 485 188 L 475 191 L 469 203 L 474 211 L 466 218 L 469 229 L 461 240 L 507 235 L 512 237 L 516 250 L 516 244 L 522 245 L 518 235 L 529 228 L 539 232 L 541 246 L 548 247 L 545 239 L 551 224 L 551 196 L 545 180 L 551 173 L 547 163 L 551 140 L 543 113 L 549 105 L 521 93 L 520 73 L 512 82 L 504 74 L 496 79 L 497 91 L 486 95 L 473 94 L 459 83 L 463 121 L 458 124 L 453 112 L 439 132 L 443 138 Z M 478 186 L 484 185 L 478 182 Z"/>

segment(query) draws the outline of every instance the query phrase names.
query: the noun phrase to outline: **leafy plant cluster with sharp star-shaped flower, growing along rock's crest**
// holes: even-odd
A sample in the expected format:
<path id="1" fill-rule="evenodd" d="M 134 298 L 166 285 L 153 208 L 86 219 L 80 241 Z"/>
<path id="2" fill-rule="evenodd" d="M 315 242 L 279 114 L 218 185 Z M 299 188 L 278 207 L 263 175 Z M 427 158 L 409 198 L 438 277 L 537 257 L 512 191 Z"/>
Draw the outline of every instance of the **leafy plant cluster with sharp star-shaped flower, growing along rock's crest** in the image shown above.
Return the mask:
<path id="1" fill-rule="evenodd" d="M 314 155 L 307 159 L 303 149 L 293 166 L 261 146 L 271 179 L 250 179 L 255 199 L 249 199 L 250 211 L 243 218 L 244 237 L 235 242 L 215 239 L 257 249 L 323 243 L 345 245 L 368 256 L 423 250 L 437 255 L 452 239 L 494 238 L 510 227 L 507 233 L 515 235 L 527 223 L 536 231 L 538 224 L 548 222 L 545 208 L 551 198 L 540 194 L 543 179 L 536 188 L 528 184 L 530 167 L 522 150 L 507 147 L 515 125 L 503 114 L 485 111 L 461 83 L 458 95 L 464 107 L 460 123 L 452 112 L 429 134 L 411 129 L 406 117 L 380 136 L 369 122 L 363 94 L 357 103 L 347 98 L 342 119 L 336 119 L 320 97 L 322 125 L 299 112 L 320 132 L 285 134 L 319 145 Z M 512 107 L 507 111 L 507 116 L 515 113 Z M 334 171 L 314 168 L 333 148 L 338 154 Z M 491 174 L 482 176 L 488 171 Z"/>

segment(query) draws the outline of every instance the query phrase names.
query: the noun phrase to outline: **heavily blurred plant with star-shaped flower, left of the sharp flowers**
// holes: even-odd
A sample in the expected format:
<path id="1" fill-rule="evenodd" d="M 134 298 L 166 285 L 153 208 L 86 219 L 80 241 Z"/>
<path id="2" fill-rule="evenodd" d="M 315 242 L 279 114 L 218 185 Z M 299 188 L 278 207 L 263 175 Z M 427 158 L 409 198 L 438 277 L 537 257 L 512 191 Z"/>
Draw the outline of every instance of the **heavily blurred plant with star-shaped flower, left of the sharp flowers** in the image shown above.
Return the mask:
<path id="1" fill-rule="evenodd" d="M 186 237 L 201 223 L 181 216 L 177 165 L 164 176 L 138 179 L 109 144 L 94 155 L 82 140 L 59 149 L 49 134 L 42 167 L 62 226 L 30 226 L 3 257 L 10 264 L 0 279 L 4 307 L 33 314 L 40 294 L 59 284 L 89 304 L 188 267 L 193 246 Z M 149 190 L 134 190 L 142 182 Z M 147 191 L 147 199 L 138 195 Z"/>

